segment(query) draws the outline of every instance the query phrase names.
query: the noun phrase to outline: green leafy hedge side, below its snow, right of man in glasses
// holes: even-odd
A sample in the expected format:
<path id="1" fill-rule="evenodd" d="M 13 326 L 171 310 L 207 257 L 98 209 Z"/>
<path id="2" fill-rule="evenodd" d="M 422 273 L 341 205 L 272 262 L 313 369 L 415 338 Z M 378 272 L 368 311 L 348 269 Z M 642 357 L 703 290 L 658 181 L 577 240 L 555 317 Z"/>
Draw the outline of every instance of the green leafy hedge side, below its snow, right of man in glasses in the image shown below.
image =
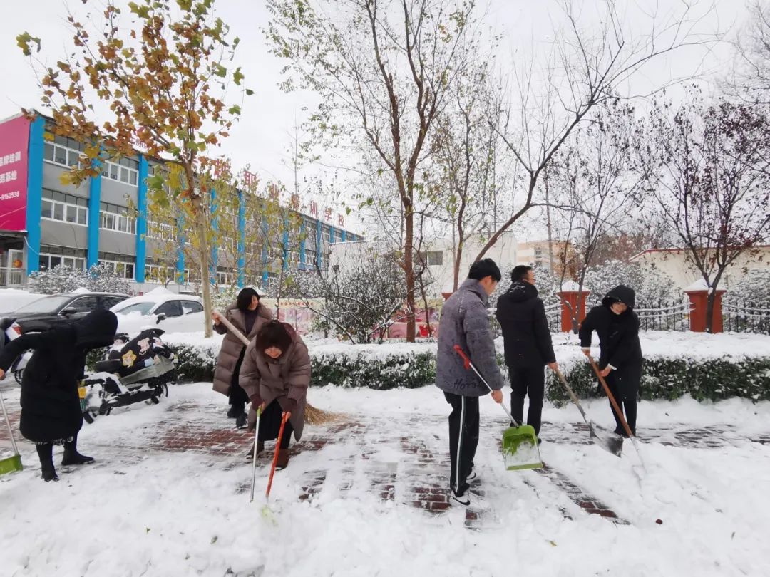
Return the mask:
<path id="1" fill-rule="evenodd" d="M 597 397 L 598 380 L 588 362 L 564 369 L 564 378 L 581 399 Z M 770 400 L 770 358 L 645 359 L 639 394 L 646 401 L 691 395 L 697 401 L 745 397 Z M 602 393 L 604 395 L 604 393 Z M 557 405 L 569 400 L 556 375 L 548 372 L 547 398 Z"/>

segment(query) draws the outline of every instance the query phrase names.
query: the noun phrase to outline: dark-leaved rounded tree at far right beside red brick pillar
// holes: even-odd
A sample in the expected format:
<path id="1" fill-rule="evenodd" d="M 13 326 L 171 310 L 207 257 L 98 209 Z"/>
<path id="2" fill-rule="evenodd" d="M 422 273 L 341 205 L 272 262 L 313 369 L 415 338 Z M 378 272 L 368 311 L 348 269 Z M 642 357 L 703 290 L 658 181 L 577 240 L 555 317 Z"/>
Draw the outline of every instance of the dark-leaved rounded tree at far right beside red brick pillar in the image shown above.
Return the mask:
<path id="1" fill-rule="evenodd" d="M 708 287 L 706 330 L 725 269 L 770 238 L 770 118 L 766 107 L 697 92 L 653 108 L 638 149 L 649 211 L 670 228 Z"/>

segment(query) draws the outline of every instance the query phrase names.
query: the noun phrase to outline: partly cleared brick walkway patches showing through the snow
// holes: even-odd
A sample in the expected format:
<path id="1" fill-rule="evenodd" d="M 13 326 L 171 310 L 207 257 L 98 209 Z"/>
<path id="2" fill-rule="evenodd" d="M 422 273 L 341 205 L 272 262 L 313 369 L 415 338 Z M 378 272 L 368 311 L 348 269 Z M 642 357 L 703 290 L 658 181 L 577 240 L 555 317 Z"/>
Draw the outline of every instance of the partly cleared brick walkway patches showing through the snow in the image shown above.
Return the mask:
<path id="1" fill-rule="evenodd" d="M 5 395 L 6 397 L 8 395 Z M 89 449 L 101 455 L 111 455 L 110 463 L 129 465 L 145 458 L 146 455 L 162 452 L 199 452 L 209 455 L 212 464 L 221 465 L 228 459 L 226 468 L 245 466 L 243 456 L 251 445 L 253 436 L 243 429 L 234 429 L 233 421 L 224 417 L 223 405 L 213 399 L 209 404 L 186 400 L 175 400 L 173 396 L 164 400 L 159 414 L 161 418 L 121 440 L 119 447 L 114 444 L 100 445 L 98 437 L 89 439 Z M 14 427 L 18 427 L 18 404 L 6 403 Z M 141 405 L 129 409 L 142 410 Z M 324 426 L 306 427 L 303 439 L 293 443 L 290 455 L 319 452 L 324 449 L 342 447 L 330 460 L 328 469 L 307 470 L 302 473 L 297 499 L 318 498 L 324 491 L 335 491 L 344 495 L 353 487 L 378 496 L 383 502 L 394 502 L 422 509 L 429 515 L 440 517 L 450 509 L 447 479 L 449 459 L 442 435 L 446 419 L 435 415 L 398 415 L 396 417 L 373 415 L 346 415 L 347 419 Z M 102 416 L 94 425 L 105 419 L 119 419 L 118 415 Z M 505 422 L 500 420 L 500 428 Z M 591 443 L 588 427 L 584 423 L 545 423 L 546 441 L 559 439 L 559 443 Z M 768 443 L 770 435 L 757 439 L 742 438 L 734 426 L 718 425 L 719 436 L 707 429 L 695 429 L 690 425 L 671 425 L 644 429 L 640 439 L 661 442 L 681 448 L 718 448 L 751 440 Z M 399 435 L 408 432 L 409 435 Z M 0 430 L 0 440 L 7 440 L 7 431 Z M 17 436 L 18 440 L 18 436 Z M 7 443 L 4 443 L 7 444 Z M 24 449 L 31 449 L 22 441 Z M 260 455 L 257 466 L 269 467 L 272 444 Z M 117 459 L 113 459 L 114 455 Z M 234 457 L 237 457 L 234 459 Z M 217 459 L 219 458 L 219 459 Z M 119 471 L 115 471 L 120 473 Z M 574 519 L 578 515 L 600 515 L 608 522 L 627 524 L 620 515 L 604 505 L 595 495 L 573 482 L 564 472 L 546 466 L 536 472 L 521 472 L 522 482 L 536 494 L 547 492 L 561 495 L 555 502 L 561 515 Z M 483 486 L 483 485 L 482 485 Z M 234 488 L 238 492 L 248 491 L 247 483 Z M 554 493 L 555 492 L 555 493 Z M 493 526 L 497 519 L 491 508 L 485 506 L 484 490 L 472 486 L 474 505 L 466 511 L 465 525 L 469 529 Z"/>

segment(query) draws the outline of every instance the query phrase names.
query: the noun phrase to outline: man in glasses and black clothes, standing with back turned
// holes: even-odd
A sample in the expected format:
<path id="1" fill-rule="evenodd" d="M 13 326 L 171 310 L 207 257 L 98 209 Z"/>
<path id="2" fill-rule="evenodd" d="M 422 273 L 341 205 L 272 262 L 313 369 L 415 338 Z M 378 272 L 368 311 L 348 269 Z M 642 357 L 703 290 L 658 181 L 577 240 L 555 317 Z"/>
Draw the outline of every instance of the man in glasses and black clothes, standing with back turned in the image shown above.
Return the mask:
<path id="1" fill-rule="evenodd" d="M 524 419 L 524 397 L 529 395 L 527 425 L 540 435 L 543 397 L 545 393 L 544 365 L 558 368 L 551 331 L 545 316 L 543 301 L 537 298 L 534 272 L 531 266 L 518 265 L 511 272 L 511 288 L 497 299 L 497 321 L 503 329 L 505 364 L 511 378 L 511 414 L 518 422 Z M 538 442 L 540 437 L 538 436 Z"/>

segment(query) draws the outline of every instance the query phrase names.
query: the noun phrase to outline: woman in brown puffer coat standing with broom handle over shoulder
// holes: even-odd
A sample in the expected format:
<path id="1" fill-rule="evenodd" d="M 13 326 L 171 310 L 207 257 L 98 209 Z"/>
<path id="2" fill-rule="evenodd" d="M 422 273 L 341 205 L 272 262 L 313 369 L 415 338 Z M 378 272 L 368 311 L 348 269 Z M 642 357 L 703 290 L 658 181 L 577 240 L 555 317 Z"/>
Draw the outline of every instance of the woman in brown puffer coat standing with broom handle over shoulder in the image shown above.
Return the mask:
<path id="1" fill-rule="evenodd" d="M 225 309 L 224 316 L 236 329 L 243 332 L 249 341 L 254 339 L 265 322 L 273 319 L 272 313 L 265 305 L 259 303 L 259 294 L 253 288 L 243 288 L 238 293 L 236 302 Z M 249 401 L 249 396 L 239 385 L 238 372 L 243 362 L 243 354 L 246 352 L 246 345 L 229 332 L 224 323 L 219 320 L 218 313 L 214 313 L 213 317 L 214 330 L 220 335 L 225 335 L 222 349 L 219 350 L 219 357 L 216 359 L 214 390 L 227 395 L 230 403 L 227 416 L 230 419 L 236 419 L 237 427 L 245 427 L 246 402 Z"/>

